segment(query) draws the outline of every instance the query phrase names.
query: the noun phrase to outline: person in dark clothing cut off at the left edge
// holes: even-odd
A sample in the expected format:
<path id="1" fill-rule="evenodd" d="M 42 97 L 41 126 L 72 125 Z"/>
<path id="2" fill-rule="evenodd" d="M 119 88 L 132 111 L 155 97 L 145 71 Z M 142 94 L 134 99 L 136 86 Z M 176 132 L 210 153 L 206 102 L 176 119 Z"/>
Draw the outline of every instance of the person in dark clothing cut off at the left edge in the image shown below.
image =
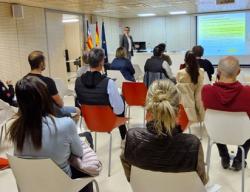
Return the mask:
<path id="1" fill-rule="evenodd" d="M 15 91 L 11 81 L 6 81 L 7 86 L 0 80 L 0 99 L 11 106 L 17 107 L 14 101 Z"/>

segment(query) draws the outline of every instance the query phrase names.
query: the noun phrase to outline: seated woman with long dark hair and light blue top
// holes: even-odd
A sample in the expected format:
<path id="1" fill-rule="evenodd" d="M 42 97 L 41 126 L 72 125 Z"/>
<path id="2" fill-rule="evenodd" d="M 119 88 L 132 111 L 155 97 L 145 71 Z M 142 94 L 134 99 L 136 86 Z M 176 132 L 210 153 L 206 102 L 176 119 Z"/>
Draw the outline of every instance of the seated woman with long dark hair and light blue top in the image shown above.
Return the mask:
<path id="1" fill-rule="evenodd" d="M 24 77 L 16 84 L 16 96 L 19 111 L 7 133 L 14 143 L 14 155 L 50 158 L 70 177 L 86 176 L 68 163 L 71 155 L 84 155 L 81 140 L 71 118 L 54 116 L 46 84 L 37 77 Z M 81 190 L 92 191 L 92 184 Z"/>

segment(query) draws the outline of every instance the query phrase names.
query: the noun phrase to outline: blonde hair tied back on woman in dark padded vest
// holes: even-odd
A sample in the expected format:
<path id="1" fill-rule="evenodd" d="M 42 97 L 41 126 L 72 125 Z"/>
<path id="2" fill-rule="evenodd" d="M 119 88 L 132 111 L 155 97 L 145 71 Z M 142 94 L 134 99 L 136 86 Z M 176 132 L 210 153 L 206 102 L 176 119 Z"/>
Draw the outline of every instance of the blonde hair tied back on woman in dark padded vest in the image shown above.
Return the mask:
<path id="1" fill-rule="evenodd" d="M 180 95 L 175 85 L 169 80 L 154 81 L 147 93 L 146 110 L 152 114 L 155 130 L 158 134 L 171 135 L 176 126 Z"/>

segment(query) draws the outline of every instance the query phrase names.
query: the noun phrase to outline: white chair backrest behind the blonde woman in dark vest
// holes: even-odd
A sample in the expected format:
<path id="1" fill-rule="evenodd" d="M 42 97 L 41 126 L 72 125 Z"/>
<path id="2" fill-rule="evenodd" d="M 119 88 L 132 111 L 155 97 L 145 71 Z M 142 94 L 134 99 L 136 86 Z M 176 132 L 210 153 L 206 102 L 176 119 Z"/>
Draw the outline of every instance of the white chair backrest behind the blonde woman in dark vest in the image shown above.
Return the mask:
<path id="1" fill-rule="evenodd" d="M 196 172 L 164 173 L 132 166 L 130 184 L 133 192 L 205 192 Z"/>

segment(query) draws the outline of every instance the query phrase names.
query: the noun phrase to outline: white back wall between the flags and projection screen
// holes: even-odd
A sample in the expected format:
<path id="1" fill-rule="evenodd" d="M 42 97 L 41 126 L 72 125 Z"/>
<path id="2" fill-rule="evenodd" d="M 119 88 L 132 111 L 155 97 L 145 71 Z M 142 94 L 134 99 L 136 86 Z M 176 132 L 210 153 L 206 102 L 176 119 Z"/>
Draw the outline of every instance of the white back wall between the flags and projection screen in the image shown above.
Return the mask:
<path id="1" fill-rule="evenodd" d="M 134 41 L 146 41 L 149 49 L 164 42 L 168 51 L 186 51 L 196 43 L 193 15 L 121 19 L 121 23 L 131 27 Z"/>

